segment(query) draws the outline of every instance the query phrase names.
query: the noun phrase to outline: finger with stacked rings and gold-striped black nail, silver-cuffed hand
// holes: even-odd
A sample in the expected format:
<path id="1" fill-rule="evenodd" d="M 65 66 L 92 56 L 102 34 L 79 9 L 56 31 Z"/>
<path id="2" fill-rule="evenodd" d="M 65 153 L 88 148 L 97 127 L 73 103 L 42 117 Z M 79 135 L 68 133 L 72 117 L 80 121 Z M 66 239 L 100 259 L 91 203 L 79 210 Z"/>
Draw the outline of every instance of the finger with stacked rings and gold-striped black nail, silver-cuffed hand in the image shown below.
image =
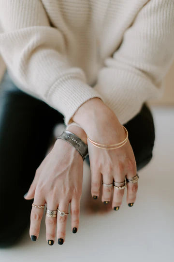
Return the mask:
<path id="1" fill-rule="evenodd" d="M 56 210 L 58 209 L 58 204 L 54 201 L 47 201 L 47 209 Z M 49 217 L 45 214 L 45 225 L 46 225 L 46 241 L 48 245 L 52 246 L 56 237 L 56 225 L 57 225 L 57 216 Z"/>

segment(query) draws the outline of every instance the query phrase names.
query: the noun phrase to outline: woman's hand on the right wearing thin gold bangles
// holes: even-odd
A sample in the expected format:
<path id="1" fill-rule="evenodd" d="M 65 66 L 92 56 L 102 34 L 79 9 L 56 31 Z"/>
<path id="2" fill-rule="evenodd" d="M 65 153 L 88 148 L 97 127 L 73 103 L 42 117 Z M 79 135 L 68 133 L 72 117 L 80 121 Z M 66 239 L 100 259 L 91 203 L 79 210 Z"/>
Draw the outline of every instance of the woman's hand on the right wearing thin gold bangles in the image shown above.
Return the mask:
<path id="1" fill-rule="evenodd" d="M 89 138 L 101 144 L 116 144 L 123 141 L 126 133 L 114 112 L 101 99 L 92 98 L 85 102 L 73 116 L 73 121 L 81 125 Z M 101 179 L 110 184 L 123 182 L 125 176 L 131 179 L 136 175 L 136 161 L 131 144 L 128 141 L 122 147 L 106 150 L 93 146 L 87 140 L 90 169 L 92 175 L 91 194 L 99 197 Z M 132 206 L 138 189 L 138 183 L 127 183 L 127 203 Z M 118 210 L 124 195 L 124 189 L 102 187 L 102 201 L 111 201 L 112 208 Z"/>

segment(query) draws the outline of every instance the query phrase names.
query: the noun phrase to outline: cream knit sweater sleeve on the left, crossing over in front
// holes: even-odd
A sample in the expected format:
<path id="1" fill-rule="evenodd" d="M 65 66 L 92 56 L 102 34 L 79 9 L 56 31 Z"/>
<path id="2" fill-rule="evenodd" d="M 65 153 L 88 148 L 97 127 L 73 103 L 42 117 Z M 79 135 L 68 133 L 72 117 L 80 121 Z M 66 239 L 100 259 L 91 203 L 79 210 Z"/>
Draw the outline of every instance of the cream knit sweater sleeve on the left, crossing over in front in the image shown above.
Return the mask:
<path id="1" fill-rule="evenodd" d="M 0 53 L 18 87 L 58 110 L 66 125 L 85 101 L 103 99 L 70 65 L 65 39 L 40 0 L 0 0 L 0 22 Z"/>

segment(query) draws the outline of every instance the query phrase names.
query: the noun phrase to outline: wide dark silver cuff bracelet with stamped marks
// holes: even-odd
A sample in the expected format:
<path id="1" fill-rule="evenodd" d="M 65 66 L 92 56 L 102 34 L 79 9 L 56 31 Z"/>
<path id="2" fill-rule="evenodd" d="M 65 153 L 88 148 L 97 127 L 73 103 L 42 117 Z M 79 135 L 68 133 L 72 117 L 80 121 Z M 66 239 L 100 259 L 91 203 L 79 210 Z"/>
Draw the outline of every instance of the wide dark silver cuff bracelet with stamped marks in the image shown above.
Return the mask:
<path id="1" fill-rule="evenodd" d="M 69 144 L 75 147 L 75 149 L 81 154 L 83 160 L 85 160 L 88 155 L 87 145 L 77 135 L 68 130 L 65 130 L 61 133 L 60 136 L 57 137 L 57 139 L 58 138 L 67 141 Z"/>

